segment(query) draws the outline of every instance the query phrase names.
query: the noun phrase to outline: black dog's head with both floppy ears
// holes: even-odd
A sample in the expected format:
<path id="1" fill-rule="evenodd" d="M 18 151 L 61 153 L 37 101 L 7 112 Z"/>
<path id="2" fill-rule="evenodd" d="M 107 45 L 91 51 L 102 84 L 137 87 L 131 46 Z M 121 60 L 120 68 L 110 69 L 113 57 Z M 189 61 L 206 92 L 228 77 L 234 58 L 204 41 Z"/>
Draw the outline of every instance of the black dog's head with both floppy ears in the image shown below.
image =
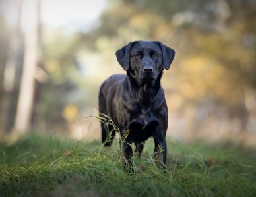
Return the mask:
<path id="1" fill-rule="evenodd" d="M 168 70 L 175 51 L 157 41 L 135 41 L 115 53 L 117 61 L 125 71 L 141 82 L 152 82 Z"/>

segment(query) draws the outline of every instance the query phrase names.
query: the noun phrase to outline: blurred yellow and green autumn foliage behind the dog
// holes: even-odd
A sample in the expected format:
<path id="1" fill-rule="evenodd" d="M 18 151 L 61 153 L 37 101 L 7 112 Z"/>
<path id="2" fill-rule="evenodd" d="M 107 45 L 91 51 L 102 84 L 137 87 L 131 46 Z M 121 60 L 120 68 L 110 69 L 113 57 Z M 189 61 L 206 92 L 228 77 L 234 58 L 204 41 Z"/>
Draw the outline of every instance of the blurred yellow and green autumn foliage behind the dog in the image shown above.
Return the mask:
<path id="1" fill-rule="evenodd" d="M 1 13 L 0 26 L 0 133 L 6 136 L 16 132 L 25 33 L 9 25 Z M 252 0 L 106 0 L 92 28 L 67 32 L 41 22 L 34 103 L 26 130 L 98 138 L 98 121 L 86 117 L 98 115 L 103 80 L 124 73 L 115 51 L 131 40 L 160 40 L 176 51 L 162 78 L 168 135 L 255 144 L 255 26 Z M 15 86 L 8 90 L 4 75 L 15 34 L 20 41 L 11 52 L 18 53 Z"/>

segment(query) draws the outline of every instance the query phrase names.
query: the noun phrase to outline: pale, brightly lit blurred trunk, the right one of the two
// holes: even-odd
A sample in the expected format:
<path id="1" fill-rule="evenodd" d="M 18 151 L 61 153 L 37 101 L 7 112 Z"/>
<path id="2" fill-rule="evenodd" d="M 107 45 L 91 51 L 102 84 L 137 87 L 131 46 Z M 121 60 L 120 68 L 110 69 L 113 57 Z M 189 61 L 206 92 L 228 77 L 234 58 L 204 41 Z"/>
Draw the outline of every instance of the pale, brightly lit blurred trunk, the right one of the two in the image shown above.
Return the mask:
<path id="1" fill-rule="evenodd" d="M 38 37 L 40 28 L 40 0 L 33 1 L 31 26 L 25 33 L 24 65 L 20 82 L 20 93 L 15 117 L 14 132 L 24 134 L 30 129 L 32 107 L 34 103 L 35 75 L 38 64 Z"/>

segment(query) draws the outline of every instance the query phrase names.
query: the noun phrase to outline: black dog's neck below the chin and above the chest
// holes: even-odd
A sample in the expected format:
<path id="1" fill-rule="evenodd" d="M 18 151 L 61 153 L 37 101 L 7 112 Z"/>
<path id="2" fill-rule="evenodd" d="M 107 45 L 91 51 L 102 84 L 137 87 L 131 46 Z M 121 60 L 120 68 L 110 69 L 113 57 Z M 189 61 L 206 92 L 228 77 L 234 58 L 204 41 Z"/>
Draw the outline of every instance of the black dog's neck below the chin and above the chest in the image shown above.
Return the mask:
<path id="1" fill-rule="evenodd" d="M 160 90 L 160 80 L 162 78 L 162 71 L 158 74 L 158 78 L 154 82 L 141 82 L 137 78 L 127 72 L 126 80 L 128 82 L 129 90 L 133 99 L 140 103 L 141 107 L 146 109 L 152 105 L 154 98 Z"/>

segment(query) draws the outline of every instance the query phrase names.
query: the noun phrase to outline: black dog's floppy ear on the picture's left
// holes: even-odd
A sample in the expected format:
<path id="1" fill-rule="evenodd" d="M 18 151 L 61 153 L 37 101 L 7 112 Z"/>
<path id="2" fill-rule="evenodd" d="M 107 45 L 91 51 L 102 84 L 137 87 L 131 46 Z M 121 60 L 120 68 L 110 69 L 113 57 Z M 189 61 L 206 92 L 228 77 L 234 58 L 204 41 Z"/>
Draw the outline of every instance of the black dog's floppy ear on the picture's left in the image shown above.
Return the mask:
<path id="1" fill-rule="evenodd" d="M 121 67 L 123 67 L 123 70 L 125 70 L 125 71 L 127 71 L 130 66 L 130 49 L 131 49 L 132 44 L 133 44 L 133 42 L 130 42 L 129 44 L 127 44 L 123 48 L 119 49 L 115 53 L 117 61 L 119 62 Z"/>

